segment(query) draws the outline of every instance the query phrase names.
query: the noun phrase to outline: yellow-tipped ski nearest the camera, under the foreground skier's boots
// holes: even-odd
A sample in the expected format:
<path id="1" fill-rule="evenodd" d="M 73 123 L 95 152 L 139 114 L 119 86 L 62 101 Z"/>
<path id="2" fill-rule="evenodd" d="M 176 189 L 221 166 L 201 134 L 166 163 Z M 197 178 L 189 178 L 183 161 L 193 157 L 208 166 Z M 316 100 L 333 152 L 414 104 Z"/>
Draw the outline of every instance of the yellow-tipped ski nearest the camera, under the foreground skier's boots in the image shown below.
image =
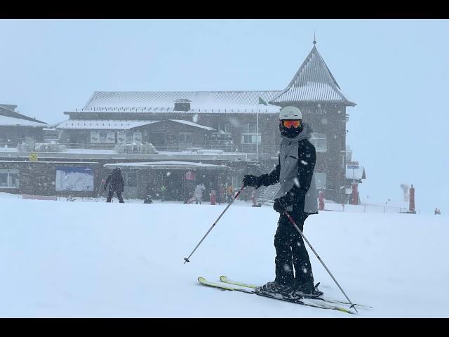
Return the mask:
<path id="1" fill-rule="evenodd" d="M 270 294 L 267 294 L 267 293 L 256 293 L 253 289 L 238 288 L 236 286 L 232 286 L 231 284 L 222 283 L 222 282 L 220 282 L 220 283 L 218 283 L 218 282 L 209 282 L 204 277 L 198 277 L 198 281 L 201 284 L 203 284 L 204 286 L 211 286 L 211 287 L 217 288 L 217 289 L 228 290 L 228 291 L 239 291 L 241 293 L 250 293 L 250 294 L 257 295 L 257 296 L 273 298 L 275 300 L 284 300 L 284 301 L 290 302 L 290 303 L 306 305 L 308 307 L 337 310 L 337 311 L 340 311 L 340 312 L 346 312 L 347 314 L 356 315 L 355 312 L 352 312 L 351 310 L 349 310 L 347 308 L 338 307 L 337 305 L 330 305 L 328 303 L 321 302 L 321 301 L 317 302 L 316 300 L 311 299 L 311 298 L 302 298 L 300 300 L 291 300 L 290 298 L 284 298 L 280 294 L 279 294 L 279 296 L 276 296 L 274 294 L 270 295 Z"/>

